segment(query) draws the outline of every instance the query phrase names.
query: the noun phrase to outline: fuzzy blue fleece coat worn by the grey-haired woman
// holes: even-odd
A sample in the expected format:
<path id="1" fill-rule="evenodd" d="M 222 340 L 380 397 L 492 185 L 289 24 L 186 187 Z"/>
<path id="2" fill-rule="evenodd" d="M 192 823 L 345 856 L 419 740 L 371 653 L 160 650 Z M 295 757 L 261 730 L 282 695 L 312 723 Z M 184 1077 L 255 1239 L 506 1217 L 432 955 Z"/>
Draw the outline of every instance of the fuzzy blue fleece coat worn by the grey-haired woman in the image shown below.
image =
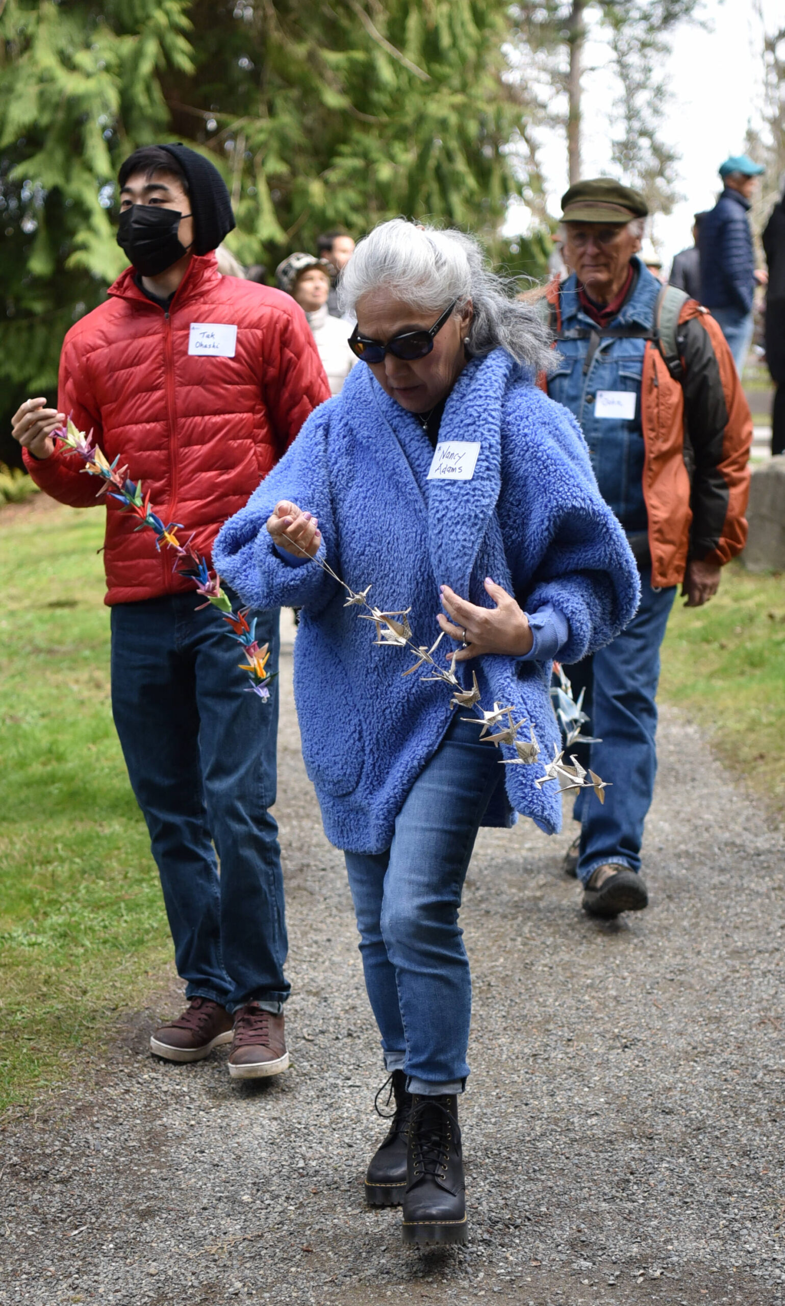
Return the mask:
<path id="1" fill-rule="evenodd" d="M 320 556 L 353 590 L 372 585 L 370 602 L 387 611 L 411 607 L 417 644 L 439 633 L 440 584 L 490 607 L 483 580 L 491 576 L 528 611 L 553 603 L 569 623 L 566 662 L 613 640 L 639 599 L 635 560 L 597 490 L 575 419 L 507 353 L 464 368 L 439 438 L 479 441 L 470 481 L 427 481 L 432 449 L 419 422 L 370 368 L 355 367 L 213 549 L 218 572 L 244 602 L 303 609 L 294 653 L 303 757 L 327 837 L 357 853 L 392 842 L 404 799 L 452 718 L 449 691 L 418 674 L 401 679 L 410 654 L 376 648 L 374 624 L 344 606 L 344 592 L 316 562 L 291 567 L 277 555 L 265 522 L 280 499 L 315 513 Z M 553 757 L 559 731 L 550 662 L 487 656 L 462 663 L 465 683 L 472 667 L 482 705 L 512 704 Z M 509 748 L 504 755 L 515 756 Z M 538 790 L 538 774 L 539 764 L 499 767 L 502 803 L 486 823 L 509 824 L 515 808 L 558 831 L 559 791 L 555 784 Z"/>

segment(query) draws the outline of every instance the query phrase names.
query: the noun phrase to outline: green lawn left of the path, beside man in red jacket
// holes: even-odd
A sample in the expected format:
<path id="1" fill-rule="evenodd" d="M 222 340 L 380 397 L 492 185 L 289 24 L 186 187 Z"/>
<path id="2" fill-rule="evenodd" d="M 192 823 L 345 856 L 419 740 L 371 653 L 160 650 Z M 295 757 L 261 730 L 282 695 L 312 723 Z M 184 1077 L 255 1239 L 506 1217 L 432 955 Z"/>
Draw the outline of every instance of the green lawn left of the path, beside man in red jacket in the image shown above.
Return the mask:
<path id="1" fill-rule="evenodd" d="M 97 1051 L 171 951 L 111 718 L 103 517 L 0 511 L 0 1107 Z"/>

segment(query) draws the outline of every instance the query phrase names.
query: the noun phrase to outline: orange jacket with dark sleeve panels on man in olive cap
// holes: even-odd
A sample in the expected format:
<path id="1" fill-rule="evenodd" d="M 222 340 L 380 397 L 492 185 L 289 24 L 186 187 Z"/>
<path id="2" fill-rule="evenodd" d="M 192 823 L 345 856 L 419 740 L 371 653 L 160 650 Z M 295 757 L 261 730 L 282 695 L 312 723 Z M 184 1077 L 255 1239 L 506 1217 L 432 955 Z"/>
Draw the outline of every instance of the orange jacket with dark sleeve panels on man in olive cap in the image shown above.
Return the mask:
<path id="1" fill-rule="evenodd" d="M 558 281 L 546 296 L 560 330 Z M 733 355 L 695 299 L 682 307 L 677 345 L 681 380 L 654 338 L 647 341 L 641 376 L 643 491 L 657 588 L 679 585 L 688 558 L 724 564 L 747 539 L 752 418 Z"/>

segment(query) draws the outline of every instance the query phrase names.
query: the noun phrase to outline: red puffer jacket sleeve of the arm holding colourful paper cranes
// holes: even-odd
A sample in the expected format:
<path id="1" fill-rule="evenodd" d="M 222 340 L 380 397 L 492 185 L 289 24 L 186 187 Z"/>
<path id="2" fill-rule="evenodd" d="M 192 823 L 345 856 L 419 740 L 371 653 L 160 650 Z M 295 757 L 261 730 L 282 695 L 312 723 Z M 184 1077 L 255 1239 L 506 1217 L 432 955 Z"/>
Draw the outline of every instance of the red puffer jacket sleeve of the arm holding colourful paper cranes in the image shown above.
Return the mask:
<path id="1" fill-rule="evenodd" d="M 80 431 L 93 431 L 97 443 L 102 443 L 101 418 L 84 372 L 78 334 L 74 338 L 72 332 L 65 337 L 60 354 L 57 407 L 71 417 Z M 95 479 L 82 474 L 80 458 L 61 452 L 48 458 L 34 458 L 26 449 L 22 456 L 35 485 L 52 499 L 72 508 L 95 508 L 106 503 L 103 496 L 98 499 L 95 495 Z"/>

